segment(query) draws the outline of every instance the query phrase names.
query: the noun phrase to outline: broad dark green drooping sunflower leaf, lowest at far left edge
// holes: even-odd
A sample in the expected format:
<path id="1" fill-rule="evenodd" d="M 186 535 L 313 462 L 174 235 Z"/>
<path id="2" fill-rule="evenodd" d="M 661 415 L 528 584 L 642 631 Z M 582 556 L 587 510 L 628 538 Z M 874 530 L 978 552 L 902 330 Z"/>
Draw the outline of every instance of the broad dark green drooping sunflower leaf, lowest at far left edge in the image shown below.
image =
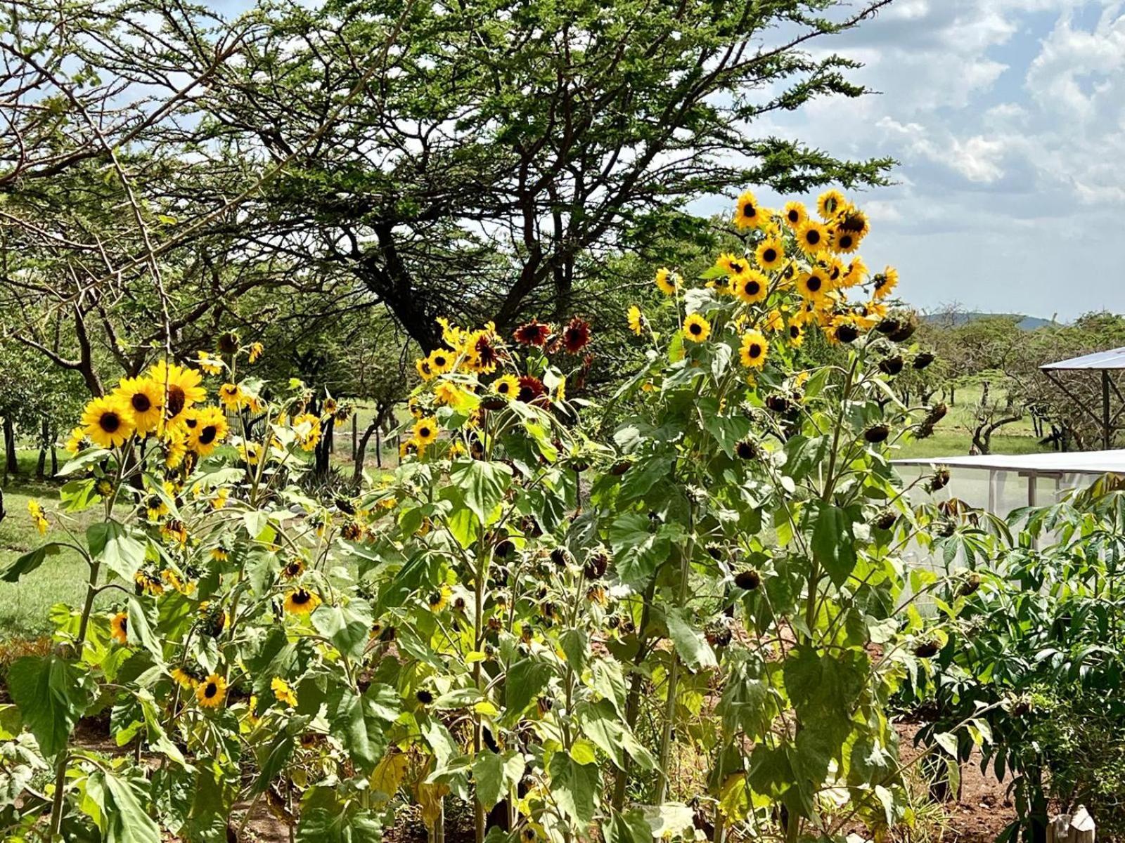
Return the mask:
<path id="1" fill-rule="evenodd" d="M 8 692 L 24 724 L 47 758 L 66 747 L 74 724 L 89 705 L 87 674 L 57 655 L 28 655 L 8 669 Z"/>

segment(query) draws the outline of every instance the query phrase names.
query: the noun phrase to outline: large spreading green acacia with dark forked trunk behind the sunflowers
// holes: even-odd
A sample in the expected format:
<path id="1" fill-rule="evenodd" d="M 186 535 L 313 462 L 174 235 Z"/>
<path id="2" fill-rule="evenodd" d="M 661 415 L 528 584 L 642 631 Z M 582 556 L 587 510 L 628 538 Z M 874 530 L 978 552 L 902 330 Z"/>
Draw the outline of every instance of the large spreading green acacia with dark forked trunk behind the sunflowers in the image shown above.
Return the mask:
<path id="1" fill-rule="evenodd" d="M 750 127 L 864 93 L 854 62 L 802 47 L 885 2 L 271 3 L 186 134 L 286 162 L 246 239 L 346 268 L 429 350 L 438 315 L 505 328 L 570 312 L 582 260 L 691 233 L 701 196 L 880 183 L 886 160 Z M 212 46 L 191 46 L 177 56 L 198 74 Z"/>

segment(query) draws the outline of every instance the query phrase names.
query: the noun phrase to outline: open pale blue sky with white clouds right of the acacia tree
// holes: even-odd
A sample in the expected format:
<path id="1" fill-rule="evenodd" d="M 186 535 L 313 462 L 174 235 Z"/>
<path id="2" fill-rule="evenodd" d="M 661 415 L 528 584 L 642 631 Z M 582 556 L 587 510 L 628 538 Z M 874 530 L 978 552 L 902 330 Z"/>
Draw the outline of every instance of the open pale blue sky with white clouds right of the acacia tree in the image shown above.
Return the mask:
<path id="1" fill-rule="evenodd" d="M 850 198 L 872 220 L 864 260 L 897 266 L 903 299 L 1125 311 L 1125 2 L 896 0 L 821 48 L 880 93 L 755 133 L 898 160 L 893 187 Z"/>

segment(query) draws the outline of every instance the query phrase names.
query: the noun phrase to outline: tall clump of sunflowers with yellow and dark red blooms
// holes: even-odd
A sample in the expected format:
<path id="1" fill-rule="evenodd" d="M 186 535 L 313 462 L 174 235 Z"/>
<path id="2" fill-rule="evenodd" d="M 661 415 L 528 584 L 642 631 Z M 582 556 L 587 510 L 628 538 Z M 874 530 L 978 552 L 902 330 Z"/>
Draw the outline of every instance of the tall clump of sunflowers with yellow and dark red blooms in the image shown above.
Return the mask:
<path id="1" fill-rule="evenodd" d="M 30 506 L 62 537 L 2 572 L 66 550 L 88 577 L 8 670 L 6 839 L 249 840 L 262 807 L 306 843 L 909 827 L 888 706 L 947 634 L 903 549 L 948 519 L 886 457 L 942 408 L 889 382 L 932 355 L 839 192 L 732 221 L 702 278 L 655 271 L 602 400 L 582 318 L 441 320 L 403 459 L 356 493 L 300 482 L 351 409 L 234 333 L 90 401 Z"/>

